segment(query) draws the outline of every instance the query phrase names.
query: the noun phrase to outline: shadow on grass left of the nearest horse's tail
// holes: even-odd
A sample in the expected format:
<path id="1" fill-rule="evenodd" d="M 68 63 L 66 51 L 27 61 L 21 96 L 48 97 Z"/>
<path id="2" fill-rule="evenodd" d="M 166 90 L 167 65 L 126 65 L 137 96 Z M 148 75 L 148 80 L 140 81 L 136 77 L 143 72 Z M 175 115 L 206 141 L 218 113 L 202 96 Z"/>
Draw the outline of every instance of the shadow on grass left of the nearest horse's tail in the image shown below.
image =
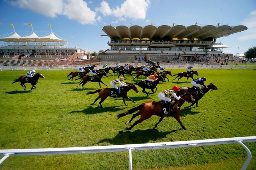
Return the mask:
<path id="1" fill-rule="evenodd" d="M 111 106 L 111 107 L 91 107 L 89 106 L 87 109 L 84 109 L 82 111 L 71 111 L 70 113 L 85 113 L 85 115 L 91 115 L 91 114 L 97 114 L 97 113 L 103 113 L 107 111 L 115 112 L 115 111 L 121 111 L 123 108 L 118 108 L 119 106 Z"/>

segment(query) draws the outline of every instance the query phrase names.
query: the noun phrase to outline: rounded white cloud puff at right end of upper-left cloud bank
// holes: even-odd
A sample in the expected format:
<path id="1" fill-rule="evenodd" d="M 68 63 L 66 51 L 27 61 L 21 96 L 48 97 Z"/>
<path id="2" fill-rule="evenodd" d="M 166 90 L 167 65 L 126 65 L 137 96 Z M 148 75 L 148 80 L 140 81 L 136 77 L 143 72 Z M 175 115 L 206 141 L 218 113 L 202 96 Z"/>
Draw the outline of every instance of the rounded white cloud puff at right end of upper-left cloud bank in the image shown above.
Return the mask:
<path id="1" fill-rule="evenodd" d="M 81 24 L 95 23 L 96 12 L 88 8 L 87 3 L 83 0 L 69 0 L 68 4 L 65 5 L 63 14 Z"/>

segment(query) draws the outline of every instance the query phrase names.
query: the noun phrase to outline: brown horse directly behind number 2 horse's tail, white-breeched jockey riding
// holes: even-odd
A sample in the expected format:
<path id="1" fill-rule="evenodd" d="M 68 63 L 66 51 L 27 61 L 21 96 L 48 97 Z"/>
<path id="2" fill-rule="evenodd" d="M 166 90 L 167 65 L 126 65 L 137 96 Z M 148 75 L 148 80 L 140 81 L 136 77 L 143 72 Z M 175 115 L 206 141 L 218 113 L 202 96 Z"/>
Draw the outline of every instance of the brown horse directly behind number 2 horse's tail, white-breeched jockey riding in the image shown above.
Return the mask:
<path id="1" fill-rule="evenodd" d="M 124 87 L 120 87 L 120 88 L 123 88 L 123 90 L 121 91 L 120 94 L 117 95 L 117 97 L 122 97 L 123 98 L 123 103 L 125 103 L 125 99 L 129 99 L 130 101 L 132 101 L 133 103 L 137 104 L 135 101 L 133 101 L 131 98 L 129 98 L 127 96 L 127 92 L 131 89 L 133 89 L 136 93 L 138 93 L 138 89 L 136 87 L 136 85 L 134 84 L 130 84 L 130 85 L 127 85 L 127 86 L 124 86 Z M 101 101 L 99 102 L 99 104 L 101 105 L 101 103 L 103 101 L 105 101 L 105 99 L 107 99 L 107 97 L 114 97 L 113 96 L 113 91 L 114 91 L 114 88 L 104 88 L 104 89 L 98 89 L 96 91 L 91 91 L 91 92 L 88 92 L 87 95 L 90 95 L 90 94 L 94 94 L 94 93 L 97 93 L 99 92 L 99 96 L 95 99 L 95 101 L 91 104 L 93 105 L 97 100 L 99 100 L 101 98 Z M 111 93 L 112 92 L 112 93 Z M 115 96 L 116 97 L 116 96 Z M 125 104 L 126 106 L 126 104 Z M 102 105 L 101 105 L 102 107 Z"/>

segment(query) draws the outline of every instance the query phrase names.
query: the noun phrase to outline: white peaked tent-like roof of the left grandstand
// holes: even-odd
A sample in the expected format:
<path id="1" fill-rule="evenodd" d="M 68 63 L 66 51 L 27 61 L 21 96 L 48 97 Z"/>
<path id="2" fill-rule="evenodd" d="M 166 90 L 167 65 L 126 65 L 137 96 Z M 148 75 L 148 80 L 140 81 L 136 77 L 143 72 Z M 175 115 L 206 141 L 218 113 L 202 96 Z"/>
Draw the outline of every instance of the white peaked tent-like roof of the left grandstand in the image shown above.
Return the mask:
<path id="1" fill-rule="evenodd" d="M 3 42 L 68 42 L 55 36 L 53 32 L 50 32 L 47 36 L 38 37 L 35 32 L 32 32 L 29 36 L 21 37 L 16 32 L 11 36 L 0 38 Z"/>

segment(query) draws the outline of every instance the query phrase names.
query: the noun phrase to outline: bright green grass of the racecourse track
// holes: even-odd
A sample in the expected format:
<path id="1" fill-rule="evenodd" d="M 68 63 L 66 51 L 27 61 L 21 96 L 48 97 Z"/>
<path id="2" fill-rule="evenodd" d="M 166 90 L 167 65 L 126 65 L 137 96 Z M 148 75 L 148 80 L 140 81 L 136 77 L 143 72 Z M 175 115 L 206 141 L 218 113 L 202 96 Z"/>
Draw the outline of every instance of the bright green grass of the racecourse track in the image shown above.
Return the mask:
<path id="1" fill-rule="evenodd" d="M 86 95 L 99 88 L 98 83 L 87 83 L 85 89 L 78 82 L 68 81 L 69 71 L 40 71 L 46 78 L 39 79 L 36 89 L 24 91 L 14 79 L 24 71 L 0 72 L 0 149 L 59 148 L 103 146 L 150 142 L 170 142 L 256 135 L 256 77 L 254 70 L 199 70 L 199 77 L 207 77 L 206 85 L 214 83 L 218 91 L 208 92 L 199 107 L 182 109 L 181 122 L 165 118 L 154 129 L 159 117 L 151 117 L 123 131 L 132 115 L 116 119 L 118 113 L 137 105 L 122 99 L 107 98 L 103 109 L 99 101 L 91 103 L 98 94 Z M 171 70 L 172 74 L 180 70 Z M 103 77 L 109 85 L 115 77 Z M 174 85 L 189 86 L 182 78 L 179 83 L 160 83 L 157 93 Z M 127 76 L 125 82 L 134 82 Z M 144 78 L 141 78 L 141 80 Z M 27 89 L 31 87 L 26 84 Z M 105 87 L 105 85 L 102 85 Z M 156 100 L 157 93 L 146 97 L 129 91 L 137 103 Z M 149 91 L 149 90 L 147 90 Z M 184 106 L 188 106 L 185 103 Z M 135 118 L 133 120 L 136 121 Z M 132 123 L 133 123 L 132 122 Z M 256 144 L 246 143 L 252 152 L 248 169 L 256 169 Z M 239 144 L 175 148 L 133 152 L 134 169 L 240 169 L 247 158 Z M 69 154 L 51 156 L 14 156 L 6 159 L 0 169 L 128 169 L 128 152 Z"/>

